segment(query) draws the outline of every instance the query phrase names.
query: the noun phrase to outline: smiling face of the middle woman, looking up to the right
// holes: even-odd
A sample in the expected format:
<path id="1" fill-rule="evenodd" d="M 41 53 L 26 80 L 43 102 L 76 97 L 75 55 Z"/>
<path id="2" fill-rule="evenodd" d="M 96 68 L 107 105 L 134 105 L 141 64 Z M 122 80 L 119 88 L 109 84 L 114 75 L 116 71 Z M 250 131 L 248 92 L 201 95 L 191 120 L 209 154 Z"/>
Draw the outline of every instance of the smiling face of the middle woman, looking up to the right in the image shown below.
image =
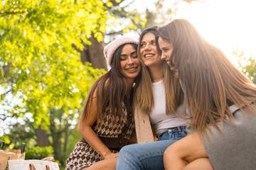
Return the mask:
<path id="1" fill-rule="evenodd" d="M 156 36 L 154 33 L 146 33 L 139 44 L 139 52 L 142 61 L 147 67 L 161 64 L 161 58 L 156 48 Z"/>

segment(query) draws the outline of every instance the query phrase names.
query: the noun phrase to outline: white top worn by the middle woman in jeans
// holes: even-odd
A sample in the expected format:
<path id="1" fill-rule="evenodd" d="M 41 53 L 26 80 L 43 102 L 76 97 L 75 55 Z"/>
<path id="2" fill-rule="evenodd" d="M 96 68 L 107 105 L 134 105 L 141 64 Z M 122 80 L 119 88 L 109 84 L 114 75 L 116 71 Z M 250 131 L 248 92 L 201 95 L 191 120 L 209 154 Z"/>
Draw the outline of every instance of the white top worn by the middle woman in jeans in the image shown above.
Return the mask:
<path id="1" fill-rule="evenodd" d="M 178 118 L 175 114 L 166 114 L 166 101 L 164 94 L 164 80 L 152 83 L 154 94 L 154 106 L 149 113 L 150 123 L 154 125 L 156 130 L 156 136 L 161 135 L 169 128 L 175 128 L 178 126 L 186 126 L 187 123 L 183 118 Z M 176 113 L 178 115 L 186 115 L 186 104 L 183 102 L 181 106 L 178 106 Z"/>

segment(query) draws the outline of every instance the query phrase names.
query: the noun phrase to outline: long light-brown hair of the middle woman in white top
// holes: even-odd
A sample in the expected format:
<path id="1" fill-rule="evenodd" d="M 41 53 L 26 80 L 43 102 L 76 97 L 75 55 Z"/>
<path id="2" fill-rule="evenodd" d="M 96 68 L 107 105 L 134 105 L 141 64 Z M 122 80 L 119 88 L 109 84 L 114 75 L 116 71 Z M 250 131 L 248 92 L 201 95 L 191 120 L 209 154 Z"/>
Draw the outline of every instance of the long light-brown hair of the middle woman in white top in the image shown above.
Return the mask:
<path id="1" fill-rule="evenodd" d="M 142 63 L 142 78 L 137 81 L 137 89 L 135 98 L 138 103 L 139 108 L 144 113 L 150 113 L 151 107 L 154 106 L 154 96 L 152 89 L 152 79 L 149 73 L 149 69 L 146 67 L 142 60 L 142 56 L 140 55 L 140 44 L 142 42 L 142 38 L 147 33 L 153 33 L 156 35 L 156 28 L 151 27 L 147 28 L 142 32 L 139 36 L 139 46 L 138 46 L 138 56 L 139 60 Z M 156 45 L 157 50 L 159 52 L 159 47 Z M 165 89 L 165 97 L 166 97 L 166 114 L 176 113 L 176 109 L 178 105 L 181 104 L 183 100 L 183 91 L 178 82 L 178 79 L 174 77 L 174 73 L 171 72 L 168 65 L 164 62 L 164 89 Z"/>

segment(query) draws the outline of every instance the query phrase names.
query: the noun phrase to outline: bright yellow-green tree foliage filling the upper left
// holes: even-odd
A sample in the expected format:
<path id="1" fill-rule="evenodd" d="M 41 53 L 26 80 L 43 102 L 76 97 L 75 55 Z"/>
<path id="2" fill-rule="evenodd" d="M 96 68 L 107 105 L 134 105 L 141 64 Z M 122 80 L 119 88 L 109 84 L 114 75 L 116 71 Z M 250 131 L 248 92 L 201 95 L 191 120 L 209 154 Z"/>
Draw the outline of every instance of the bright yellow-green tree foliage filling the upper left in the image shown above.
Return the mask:
<path id="1" fill-rule="evenodd" d="M 50 125 L 49 108 L 75 113 L 92 81 L 104 72 L 83 66 L 72 47 L 83 50 L 92 32 L 103 40 L 108 19 L 103 5 L 99 0 L 9 0 L 0 5 L 0 84 L 21 98 L 26 110 L 16 113 L 33 113 L 35 127 Z"/>

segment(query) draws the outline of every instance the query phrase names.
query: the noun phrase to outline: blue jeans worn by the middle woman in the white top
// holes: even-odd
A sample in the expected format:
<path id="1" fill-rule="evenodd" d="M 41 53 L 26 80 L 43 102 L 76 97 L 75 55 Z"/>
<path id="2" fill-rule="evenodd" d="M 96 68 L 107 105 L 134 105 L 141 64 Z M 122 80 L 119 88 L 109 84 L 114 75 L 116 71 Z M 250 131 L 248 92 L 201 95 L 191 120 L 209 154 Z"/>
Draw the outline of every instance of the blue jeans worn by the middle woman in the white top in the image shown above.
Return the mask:
<path id="1" fill-rule="evenodd" d="M 117 160 L 117 170 L 164 169 L 164 151 L 177 140 L 185 137 L 186 128 L 167 130 L 156 142 L 122 147 Z"/>

